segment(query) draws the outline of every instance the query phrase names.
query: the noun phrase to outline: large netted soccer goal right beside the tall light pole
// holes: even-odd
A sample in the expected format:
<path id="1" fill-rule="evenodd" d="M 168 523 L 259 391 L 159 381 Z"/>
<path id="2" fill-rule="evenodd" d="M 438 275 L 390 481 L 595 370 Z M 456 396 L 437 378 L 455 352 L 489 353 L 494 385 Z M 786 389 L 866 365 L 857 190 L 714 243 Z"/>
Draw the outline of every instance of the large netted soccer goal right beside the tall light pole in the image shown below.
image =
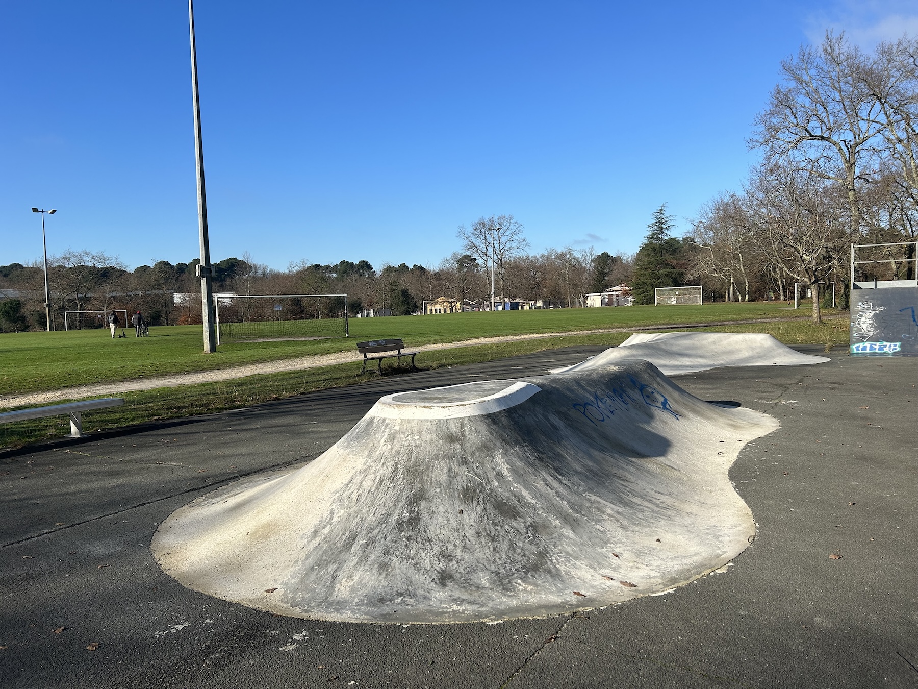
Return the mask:
<path id="1" fill-rule="evenodd" d="M 217 344 L 347 337 L 346 294 L 214 295 Z"/>

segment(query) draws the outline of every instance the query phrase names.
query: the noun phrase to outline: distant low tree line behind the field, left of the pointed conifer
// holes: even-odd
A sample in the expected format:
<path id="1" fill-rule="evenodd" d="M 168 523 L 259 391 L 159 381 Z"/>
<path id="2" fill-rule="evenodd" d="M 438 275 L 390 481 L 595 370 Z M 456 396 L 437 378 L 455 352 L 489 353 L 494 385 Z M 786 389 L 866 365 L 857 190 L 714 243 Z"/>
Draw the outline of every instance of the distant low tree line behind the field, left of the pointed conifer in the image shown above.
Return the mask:
<path id="1" fill-rule="evenodd" d="M 513 236 L 508 237 L 504 229 Z M 352 316 L 370 309 L 408 315 L 420 311 L 424 301 L 441 297 L 457 305 L 465 303 L 466 309 L 487 309 L 492 290 L 498 302 L 527 299 L 543 301 L 544 308 L 582 307 L 589 292 L 631 276 L 633 256 L 597 254 L 592 247 L 529 254 L 522 231 L 512 216 L 482 218 L 469 229 L 459 228 L 461 250 L 438 265 L 386 264 L 378 270 L 366 260 L 337 264 L 304 260 L 278 270 L 242 254 L 214 264 L 213 287 L 215 292 L 241 295 L 347 294 Z M 103 253 L 68 251 L 52 256 L 48 275 L 52 327 L 63 328 L 64 311 L 113 309 L 141 311 L 153 325 L 201 322 L 198 263 L 197 259 L 178 264 L 158 261 L 129 270 L 117 257 Z M 44 329 L 40 262 L 0 265 L 0 291 L 8 297 L 0 300 L 0 327 L 5 332 Z M 75 314 L 69 318 L 76 322 Z M 102 322 L 99 316 L 86 315 L 81 325 L 101 327 Z"/>

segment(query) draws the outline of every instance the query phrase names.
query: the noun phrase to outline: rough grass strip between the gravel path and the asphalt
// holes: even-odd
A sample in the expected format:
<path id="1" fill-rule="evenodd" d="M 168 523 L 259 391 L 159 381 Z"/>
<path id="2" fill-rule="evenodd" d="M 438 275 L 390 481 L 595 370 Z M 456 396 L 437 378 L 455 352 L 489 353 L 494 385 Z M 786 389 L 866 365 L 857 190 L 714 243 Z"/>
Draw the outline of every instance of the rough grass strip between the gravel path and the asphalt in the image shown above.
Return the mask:
<path id="1" fill-rule="evenodd" d="M 698 332 L 698 329 L 692 331 Z M 666 332 L 672 331 L 666 329 Z M 846 323 L 838 325 L 831 321 L 819 326 L 799 320 L 738 323 L 719 327 L 706 326 L 702 332 L 769 333 L 784 344 L 823 344 L 826 349 L 834 345 L 846 346 L 848 343 Z M 437 349 L 419 355 L 418 365 L 431 370 L 583 344 L 615 346 L 624 342 L 628 334 L 586 333 Z M 359 385 L 378 378 L 375 373 L 361 375 L 360 367 L 360 362 L 349 362 L 174 388 L 127 392 L 122 395 L 125 400 L 124 406 L 86 412 L 84 427 L 89 433 L 98 433 L 151 421 L 225 412 L 251 407 L 265 401 L 284 400 L 317 390 Z M 15 449 L 29 443 L 60 438 L 69 431 L 70 424 L 66 416 L 0 425 L 0 449 Z"/>

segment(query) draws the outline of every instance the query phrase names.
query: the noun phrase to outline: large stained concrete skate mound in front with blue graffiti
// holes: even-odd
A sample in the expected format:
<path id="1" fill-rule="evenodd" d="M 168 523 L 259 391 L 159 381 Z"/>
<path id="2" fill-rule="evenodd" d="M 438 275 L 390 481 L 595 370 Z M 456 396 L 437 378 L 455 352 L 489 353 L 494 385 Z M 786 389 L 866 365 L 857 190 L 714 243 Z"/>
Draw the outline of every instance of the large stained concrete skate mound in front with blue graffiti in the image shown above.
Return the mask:
<path id="1" fill-rule="evenodd" d="M 640 361 L 390 395 L 302 469 L 172 514 L 162 569 L 286 616 L 465 622 L 666 591 L 748 546 L 727 469 L 770 416 Z"/>

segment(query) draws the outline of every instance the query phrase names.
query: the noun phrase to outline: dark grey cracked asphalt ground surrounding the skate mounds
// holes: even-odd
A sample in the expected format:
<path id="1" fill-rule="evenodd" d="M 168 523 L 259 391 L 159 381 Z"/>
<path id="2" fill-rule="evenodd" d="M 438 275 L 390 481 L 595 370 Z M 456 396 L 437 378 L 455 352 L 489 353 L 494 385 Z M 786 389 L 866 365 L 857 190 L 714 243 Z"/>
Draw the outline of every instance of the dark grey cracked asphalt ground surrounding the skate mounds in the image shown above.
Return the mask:
<path id="1" fill-rule="evenodd" d="M 674 377 L 781 428 L 731 469 L 755 543 L 665 595 L 497 625 L 328 623 L 192 592 L 151 558 L 175 509 L 318 457 L 384 394 L 537 375 L 601 349 L 387 376 L 0 455 L 0 686 L 918 686 L 915 358 L 831 353 L 816 366 Z"/>

